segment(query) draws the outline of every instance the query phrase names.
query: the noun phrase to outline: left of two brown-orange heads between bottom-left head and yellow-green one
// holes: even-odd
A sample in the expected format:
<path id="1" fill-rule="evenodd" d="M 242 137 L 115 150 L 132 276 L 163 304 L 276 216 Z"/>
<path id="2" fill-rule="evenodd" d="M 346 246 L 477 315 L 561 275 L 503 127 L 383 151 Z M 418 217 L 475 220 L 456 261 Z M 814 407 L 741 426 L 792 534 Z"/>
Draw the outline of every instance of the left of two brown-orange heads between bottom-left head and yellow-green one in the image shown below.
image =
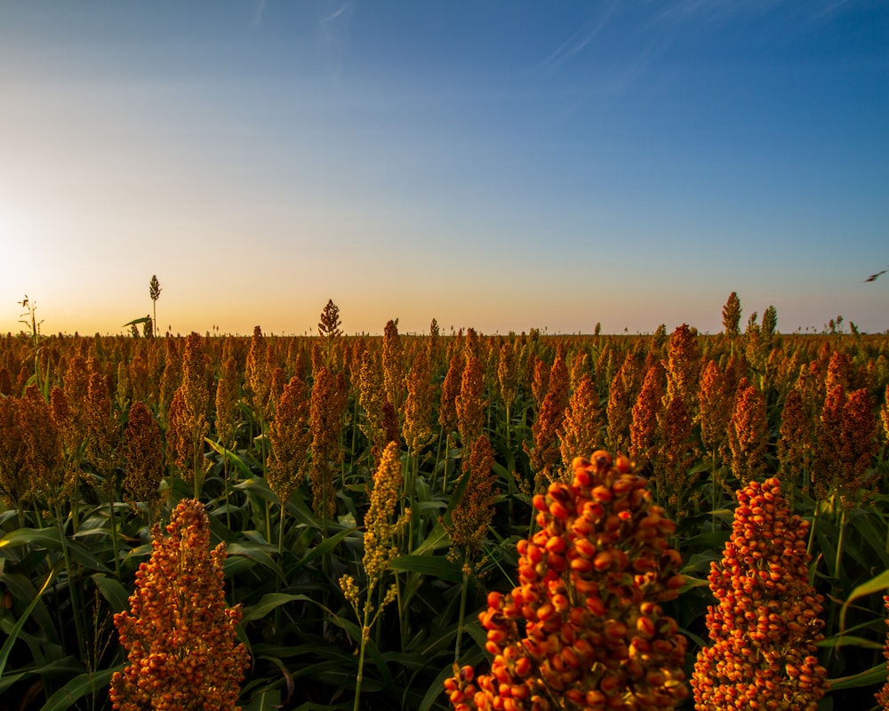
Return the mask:
<path id="1" fill-rule="evenodd" d="M 309 428 L 308 388 L 297 376 L 284 386 L 268 425 L 272 451 L 268 455 L 268 487 L 281 503 L 300 488 L 310 467 L 312 432 Z"/>

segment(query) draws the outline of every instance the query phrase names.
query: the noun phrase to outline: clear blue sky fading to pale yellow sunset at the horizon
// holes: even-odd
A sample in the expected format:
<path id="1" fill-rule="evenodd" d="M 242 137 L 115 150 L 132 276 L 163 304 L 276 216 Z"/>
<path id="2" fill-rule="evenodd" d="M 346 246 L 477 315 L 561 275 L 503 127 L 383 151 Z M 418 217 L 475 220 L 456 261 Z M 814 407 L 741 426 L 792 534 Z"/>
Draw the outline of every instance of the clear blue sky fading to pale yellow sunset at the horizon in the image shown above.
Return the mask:
<path id="1" fill-rule="evenodd" d="M 889 329 L 889 5 L 0 0 L 0 331 Z"/>

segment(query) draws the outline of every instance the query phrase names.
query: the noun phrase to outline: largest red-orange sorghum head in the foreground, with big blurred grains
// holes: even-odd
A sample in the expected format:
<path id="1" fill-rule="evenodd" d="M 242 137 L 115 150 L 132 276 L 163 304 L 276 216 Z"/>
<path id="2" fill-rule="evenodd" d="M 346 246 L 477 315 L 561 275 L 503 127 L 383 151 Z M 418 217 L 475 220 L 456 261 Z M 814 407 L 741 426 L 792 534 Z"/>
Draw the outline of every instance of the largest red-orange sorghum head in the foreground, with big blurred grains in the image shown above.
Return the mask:
<path id="1" fill-rule="evenodd" d="M 519 585 L 479 616 L 491 675 L 454 665 L 445 682 L 457 711 L 664 711 L 688 695 L 686 640 L 661 608 L 685 582 L 675 524 L 626 457 L 573 469 L 534 497 L 541 530 L 519 541 Z"/>

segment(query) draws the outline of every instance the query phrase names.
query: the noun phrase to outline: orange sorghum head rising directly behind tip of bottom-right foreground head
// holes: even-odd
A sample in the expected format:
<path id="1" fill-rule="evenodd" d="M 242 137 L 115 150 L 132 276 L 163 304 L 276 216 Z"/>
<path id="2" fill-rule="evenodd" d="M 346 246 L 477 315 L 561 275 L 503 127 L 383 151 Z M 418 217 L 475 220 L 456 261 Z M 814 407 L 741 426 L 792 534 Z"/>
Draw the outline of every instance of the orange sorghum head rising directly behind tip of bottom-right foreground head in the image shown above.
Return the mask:
<path id="1" fill-rule="evenodd" d="M 739 482 L 748 483 L 765 473 L 768 438 L 765 396 L 758 387 L 742 381 L 728 427 L 732 473 Z"/>

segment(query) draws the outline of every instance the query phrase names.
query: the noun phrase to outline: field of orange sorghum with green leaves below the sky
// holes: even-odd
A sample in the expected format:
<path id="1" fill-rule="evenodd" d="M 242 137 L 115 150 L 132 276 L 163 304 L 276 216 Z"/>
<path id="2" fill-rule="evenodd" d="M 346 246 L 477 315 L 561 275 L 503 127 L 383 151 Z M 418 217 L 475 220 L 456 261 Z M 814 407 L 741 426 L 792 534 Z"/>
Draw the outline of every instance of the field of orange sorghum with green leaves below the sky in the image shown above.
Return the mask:
<path id="1" fill-rule="evenodd" d="M 889 336 L 0 338 L 0 710 L 889 708 Z"/>

